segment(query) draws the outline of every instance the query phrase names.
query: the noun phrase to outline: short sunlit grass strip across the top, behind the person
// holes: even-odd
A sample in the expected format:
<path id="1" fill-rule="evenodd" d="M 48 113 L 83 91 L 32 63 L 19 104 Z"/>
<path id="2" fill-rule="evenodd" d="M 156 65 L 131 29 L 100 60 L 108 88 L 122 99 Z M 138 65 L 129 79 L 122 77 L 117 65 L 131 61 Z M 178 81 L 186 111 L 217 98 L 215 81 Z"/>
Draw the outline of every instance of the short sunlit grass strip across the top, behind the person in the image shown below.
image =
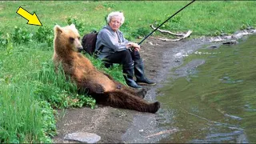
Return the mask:
<path id="1" fill-rule="evenodd" d="M 104 17 L 113 10 L 124 12 L 130 32 L 139 28 L 150 30 L 150 24 L 162 23 L 170 15 L 185 6 L 187 1 L 164 2 L 115 2 L 115 1 L 73 1 L 73 2 L 2 2 L 0 6 L 0 30 L 5 32 L 22 26 L 31 33 L 38 26 L 26 25 L 25 18 L 14 13 L 22 6 L 30 13 L 36 12 L 43 26 L 53 27 L 55 23 L 66 25 L 66 18 L 78 18 L 85 26 L 86 33 L 91 30 L 100 30 L 105 25 Z M 162 27 L 172 31 L 193 30 L 192 36 L 214 35 L 216 31 L 233 33 L 243 25 L 255 26 L 254 7 L 256 2 L 238 1 L 196 1 L 182 10 Z M 176 21 L 175 21 L 176 20 Z M 129 31 L 126 32 L 129 35 Z"/>

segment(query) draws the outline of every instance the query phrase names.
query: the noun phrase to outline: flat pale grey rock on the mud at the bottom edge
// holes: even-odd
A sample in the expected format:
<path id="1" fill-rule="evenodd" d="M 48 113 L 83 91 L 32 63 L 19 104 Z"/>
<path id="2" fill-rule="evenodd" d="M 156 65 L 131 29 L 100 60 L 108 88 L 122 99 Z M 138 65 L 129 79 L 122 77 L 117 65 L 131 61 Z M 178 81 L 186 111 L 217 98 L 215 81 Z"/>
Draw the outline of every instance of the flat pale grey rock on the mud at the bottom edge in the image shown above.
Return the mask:
<path id="1" fill-rule="evenodd" d="M 78 142 L 96 143 L 101 139 L 101 137 L 97 134 L 81 132 L 66 134 L 64 139 Z"/>

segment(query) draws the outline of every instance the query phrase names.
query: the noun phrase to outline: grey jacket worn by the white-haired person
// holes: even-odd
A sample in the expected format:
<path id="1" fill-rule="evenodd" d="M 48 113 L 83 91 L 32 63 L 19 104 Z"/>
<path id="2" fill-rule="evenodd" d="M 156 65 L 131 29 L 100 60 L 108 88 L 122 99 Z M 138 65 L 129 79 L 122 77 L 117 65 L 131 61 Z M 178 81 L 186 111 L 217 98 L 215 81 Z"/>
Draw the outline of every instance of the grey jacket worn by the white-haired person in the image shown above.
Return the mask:
<path id="1" fill-rule="evenodd" d="M 120 30 L 117 31 L 118 42 L 115 41 L 116 34 L 110 26 L 104 26 L 98 32 L 95 51 L 98 51 L 98 58 L 106 58 L 106 56 L 113 54 L 116 51 L 126 50 L 126 44 L 129 42 L 123 37 Z"/>

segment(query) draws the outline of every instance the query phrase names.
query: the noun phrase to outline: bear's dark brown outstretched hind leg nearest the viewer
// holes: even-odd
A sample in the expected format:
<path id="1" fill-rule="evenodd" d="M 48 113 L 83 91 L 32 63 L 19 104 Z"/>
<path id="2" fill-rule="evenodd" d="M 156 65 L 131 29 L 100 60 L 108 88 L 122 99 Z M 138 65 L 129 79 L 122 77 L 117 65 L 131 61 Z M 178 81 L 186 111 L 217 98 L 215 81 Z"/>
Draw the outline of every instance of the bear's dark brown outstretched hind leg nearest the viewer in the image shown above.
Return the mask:
<path id="1" fill-rule="evenodd" d="M 109 95 L 108 104 L 113 107 L 137 110 L 141 112 L 156 113 L 160 108 L 159 102 L 146 102 L 142 98 L 138 98 L 122 90 L 107 92 Z"/>

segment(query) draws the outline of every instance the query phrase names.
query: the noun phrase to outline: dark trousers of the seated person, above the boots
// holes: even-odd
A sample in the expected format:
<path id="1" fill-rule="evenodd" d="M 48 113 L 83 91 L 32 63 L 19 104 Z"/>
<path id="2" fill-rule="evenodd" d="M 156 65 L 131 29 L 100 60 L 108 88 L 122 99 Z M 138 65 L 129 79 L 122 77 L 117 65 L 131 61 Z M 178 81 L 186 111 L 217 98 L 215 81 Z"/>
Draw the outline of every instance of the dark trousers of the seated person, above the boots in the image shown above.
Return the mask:
<path id="1" fill-rule="evenodd" d="M 130 51 L 129 49 L 117 51 L 113 54 L 110 54 L 106 58 L 103 59 L 106 67 L 110 67 L 112 63 L 122 64 L 124 67 L 130 67 L 134 61 L 139 60 L 141 58 L 138 51 Z"/>

